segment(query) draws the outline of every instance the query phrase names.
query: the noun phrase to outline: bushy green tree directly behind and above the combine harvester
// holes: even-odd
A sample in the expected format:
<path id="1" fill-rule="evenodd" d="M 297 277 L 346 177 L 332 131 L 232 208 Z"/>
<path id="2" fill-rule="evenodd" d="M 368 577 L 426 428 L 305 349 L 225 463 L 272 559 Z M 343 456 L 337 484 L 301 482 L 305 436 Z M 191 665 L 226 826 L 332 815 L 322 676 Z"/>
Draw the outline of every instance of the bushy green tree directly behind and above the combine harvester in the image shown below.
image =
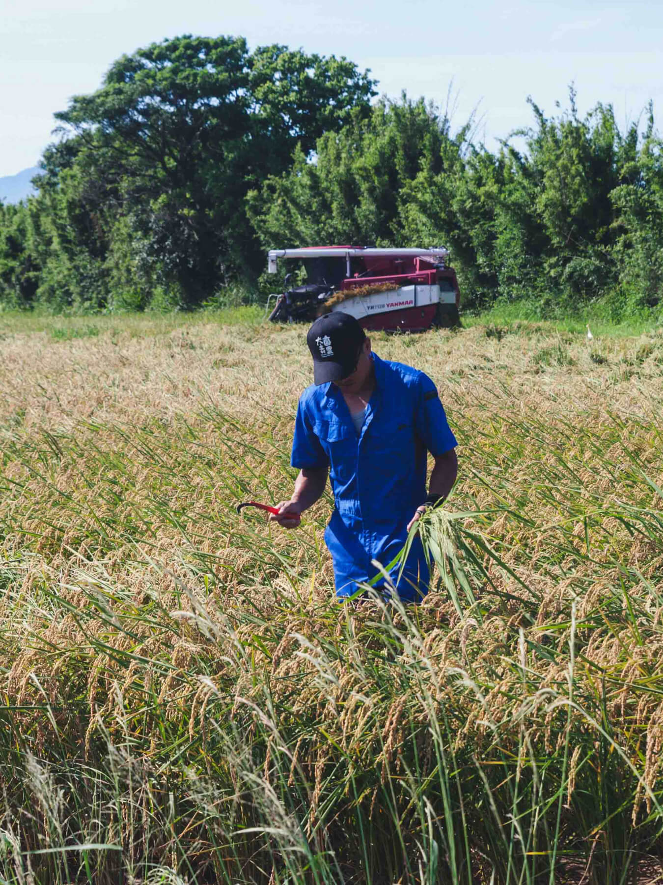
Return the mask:
<path id="1" fill-rule="evenodd" d="M 339 133 L 301 147 L 293 166 L 248 196 L 263 248 L 331 242 L 401 243 L 400 194 L 425 168 L 438 173 L 448 120 L 423 99 L 381 100 Z"/>

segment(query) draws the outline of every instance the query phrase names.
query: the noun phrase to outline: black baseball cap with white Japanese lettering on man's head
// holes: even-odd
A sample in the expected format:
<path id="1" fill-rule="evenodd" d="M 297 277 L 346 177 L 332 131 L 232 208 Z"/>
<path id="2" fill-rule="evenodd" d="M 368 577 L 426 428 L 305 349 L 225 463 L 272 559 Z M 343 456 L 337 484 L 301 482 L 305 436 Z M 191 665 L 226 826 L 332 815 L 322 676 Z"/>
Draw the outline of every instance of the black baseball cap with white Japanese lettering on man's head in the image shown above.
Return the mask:
<path id="1" fill-rule="evenodd" d="M 347 378 L 357 367 L 357 357 L 366 335 L 349 313 L 324 313 L 309 328 L 306 342 L 313 357 L 313 381 L 326 384 Z"/>

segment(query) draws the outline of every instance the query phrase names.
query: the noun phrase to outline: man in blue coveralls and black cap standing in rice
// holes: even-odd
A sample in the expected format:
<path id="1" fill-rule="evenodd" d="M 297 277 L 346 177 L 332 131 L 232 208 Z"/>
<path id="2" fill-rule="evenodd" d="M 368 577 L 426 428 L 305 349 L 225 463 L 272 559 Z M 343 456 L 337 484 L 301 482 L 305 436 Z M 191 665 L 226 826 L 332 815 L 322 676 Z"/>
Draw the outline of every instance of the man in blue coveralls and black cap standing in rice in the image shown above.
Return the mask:
<path id="1" fill-rule="evenodd" d="M 358 583 L 376 577 L 374 586 L 388 593 L 371 560 L 388 566 L 415 521 L 449 494 L 457 443 L 428 375 L 377 357 L 354 317 L 324 314 L 307 342 L 314 384 L 300 397 L 291 461 L 300 473 L 293 496 L 270 519 L 297 527 L 301 513 L 323 494 L 329 473 L 335 507 L 324 540 L 336 594 L 352 596 Z M 428 495 L 427 451 L 435 459 Z M 390 573 L 400 599 L 422 599 L 430 575 L 418 535 L 400 568 Z"/>

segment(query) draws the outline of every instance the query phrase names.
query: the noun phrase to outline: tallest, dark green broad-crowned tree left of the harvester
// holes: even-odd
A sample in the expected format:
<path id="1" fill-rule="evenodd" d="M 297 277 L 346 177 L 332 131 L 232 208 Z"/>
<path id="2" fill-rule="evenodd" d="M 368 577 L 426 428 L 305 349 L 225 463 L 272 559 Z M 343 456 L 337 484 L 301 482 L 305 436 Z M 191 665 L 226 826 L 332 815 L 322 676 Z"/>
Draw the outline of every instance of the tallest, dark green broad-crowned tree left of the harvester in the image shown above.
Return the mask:
<path id="1" fill-rule="evenodd" d="M 235 37 L 165 40 L 119 58 L 101 89 L 57 114 L 68 147 L 46 156 L 45 177 L 62 185 L 75 167 L 110 281 L 124 268 L 118 286 L 133 280 L 135 304 L 156 286 L 198 304 L 229 275 L 259 269 L 248 189 L 286 169 L 296 145 L 309 153 L 325 131 L 369 113 L 373 95 L 345 58 L 249 52 Z"/>

